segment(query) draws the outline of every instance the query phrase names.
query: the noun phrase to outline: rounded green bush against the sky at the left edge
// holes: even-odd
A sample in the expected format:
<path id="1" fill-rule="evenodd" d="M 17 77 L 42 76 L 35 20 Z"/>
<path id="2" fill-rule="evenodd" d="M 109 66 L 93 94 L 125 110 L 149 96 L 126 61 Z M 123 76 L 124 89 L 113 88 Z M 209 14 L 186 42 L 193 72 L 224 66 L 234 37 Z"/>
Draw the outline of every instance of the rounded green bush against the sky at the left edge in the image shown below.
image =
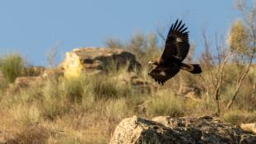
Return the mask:
<path id="1" fill-rule="evenodd" d="M 18 53 L 10 53 L 0 58 L 0 71 L 9 82 L 23 74 L 26 63 Z"/>

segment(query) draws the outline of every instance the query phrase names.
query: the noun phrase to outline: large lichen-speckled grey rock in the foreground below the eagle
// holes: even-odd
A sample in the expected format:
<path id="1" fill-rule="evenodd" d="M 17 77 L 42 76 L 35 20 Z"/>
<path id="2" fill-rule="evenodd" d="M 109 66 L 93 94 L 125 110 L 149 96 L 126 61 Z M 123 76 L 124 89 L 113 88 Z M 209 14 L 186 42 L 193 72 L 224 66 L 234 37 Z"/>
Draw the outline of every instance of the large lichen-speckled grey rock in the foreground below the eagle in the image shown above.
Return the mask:
<path id="1" fill-rule="evenodd" d="M 157 122 L 156 122 L 157 121 Z M 110 144 L 222 144 L 256 143 L 256 136 L 212 117 L 124 118 Z"/>

